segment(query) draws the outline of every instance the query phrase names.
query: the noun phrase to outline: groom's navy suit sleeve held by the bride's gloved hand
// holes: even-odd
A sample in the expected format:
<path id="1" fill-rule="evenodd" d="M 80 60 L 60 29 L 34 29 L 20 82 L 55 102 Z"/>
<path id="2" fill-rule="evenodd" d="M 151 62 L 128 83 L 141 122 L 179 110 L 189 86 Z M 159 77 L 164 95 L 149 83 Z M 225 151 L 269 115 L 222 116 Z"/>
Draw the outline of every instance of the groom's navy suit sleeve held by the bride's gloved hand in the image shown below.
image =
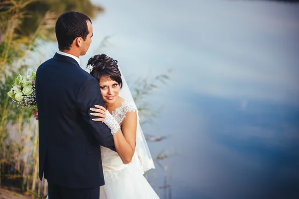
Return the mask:
<path id="1" fill-rule="evenodd" d="M 116 151 L 109 127 L 102 122 L 93 121 L 90 115 L 90 108 L 95 108 L 94 105 L 104 106 L 99 82 L 96 78 L 89 77 L 81 85 L 77 94 L 77 105 L 84 121 L 88 123 L 89 131 L 99 145 Z"/>

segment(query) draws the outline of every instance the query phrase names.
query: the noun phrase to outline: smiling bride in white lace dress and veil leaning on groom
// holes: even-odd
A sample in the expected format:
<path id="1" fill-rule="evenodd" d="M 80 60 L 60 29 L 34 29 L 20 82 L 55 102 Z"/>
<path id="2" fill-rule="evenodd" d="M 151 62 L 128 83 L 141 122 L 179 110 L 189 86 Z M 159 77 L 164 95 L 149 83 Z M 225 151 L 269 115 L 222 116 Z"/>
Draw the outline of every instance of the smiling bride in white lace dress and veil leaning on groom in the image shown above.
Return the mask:
<path id="1" fill-rule="evenodd" d="M 154 165 L 138 110 L 117 61 L 105 54 L 95 55 L 86 71 L 99 81 L 105 106 L 91 109 L 91 115 L 111 129 L 117 150 L 100 147 L 105 179 L 100 199 L 159 199 L 143 176 Z"/>

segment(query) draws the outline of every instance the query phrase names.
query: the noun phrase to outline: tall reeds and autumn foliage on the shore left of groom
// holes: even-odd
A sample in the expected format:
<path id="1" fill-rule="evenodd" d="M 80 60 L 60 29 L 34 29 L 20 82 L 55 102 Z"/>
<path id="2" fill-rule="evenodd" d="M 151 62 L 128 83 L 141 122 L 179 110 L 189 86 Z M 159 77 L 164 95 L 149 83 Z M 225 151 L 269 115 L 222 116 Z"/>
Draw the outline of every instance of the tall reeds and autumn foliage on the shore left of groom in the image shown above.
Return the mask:
<path id="1" fill-rule="evenodd" d="M 8 97 L 14 79 L 40 43 L 55 41 L 59 14 L 75 10 L 94 18 L 104 8 L 90 0 L 0 1 L 0 197 L 45 197 L 47 183 L 38 179 L 38 127 L 28 110 Z M 33 60 L 33 59 L 32 59 Z M 33 63 L 33 68 L 40 63 Z M 4 191 L 6 190 L 6 191 Z M 9 191 L 10 190 L 10 191 Z M 7 196 L 6 196 L 7 195 Z M 8 197 L 8 195 L 10 197 Z"/>

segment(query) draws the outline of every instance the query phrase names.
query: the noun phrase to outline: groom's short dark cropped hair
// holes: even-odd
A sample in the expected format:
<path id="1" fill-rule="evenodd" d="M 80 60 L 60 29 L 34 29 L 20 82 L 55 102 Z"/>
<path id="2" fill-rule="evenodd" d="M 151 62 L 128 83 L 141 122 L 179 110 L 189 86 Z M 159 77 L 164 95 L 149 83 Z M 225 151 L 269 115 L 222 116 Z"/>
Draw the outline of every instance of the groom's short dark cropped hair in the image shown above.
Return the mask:
<path id="1" fill-rule="evenodd" d="M 77 37 L 86 39 L 89 33 L 87 21 L 91 22 L 88 16 L 75 11 L 64 12 L 58 17 L 55 33 L 59 50 L 69 50 Z"/>

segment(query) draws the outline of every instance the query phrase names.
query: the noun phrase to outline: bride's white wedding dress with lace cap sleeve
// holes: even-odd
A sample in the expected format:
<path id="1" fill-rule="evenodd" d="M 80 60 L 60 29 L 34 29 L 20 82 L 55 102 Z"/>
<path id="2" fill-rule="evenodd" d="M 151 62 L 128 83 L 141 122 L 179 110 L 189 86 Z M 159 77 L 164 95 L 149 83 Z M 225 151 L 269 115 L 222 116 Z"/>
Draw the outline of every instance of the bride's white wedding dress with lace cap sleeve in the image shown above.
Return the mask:
<path id="1" fill-rule="evenodd" d="M 136 108 L 124 101 L 112 116 L 120 124 L 131 111 Z M 137 153 L 127 165 L 116 152 L 106 147 L 101 147 L 101 156 L 105 185 L 100 187 L 100 199 L 159 199 L 143 176 Z"/>

